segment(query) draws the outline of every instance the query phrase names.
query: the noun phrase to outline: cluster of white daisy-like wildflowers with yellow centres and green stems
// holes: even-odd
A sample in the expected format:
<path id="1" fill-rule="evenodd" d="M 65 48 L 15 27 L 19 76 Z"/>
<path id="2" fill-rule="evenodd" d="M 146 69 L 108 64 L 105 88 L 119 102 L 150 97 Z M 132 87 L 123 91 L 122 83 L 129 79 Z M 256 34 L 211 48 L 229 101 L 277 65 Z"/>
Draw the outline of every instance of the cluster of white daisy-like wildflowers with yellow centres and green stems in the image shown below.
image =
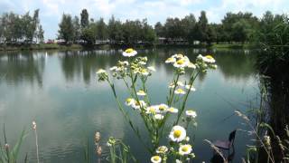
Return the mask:
<path id="1" fill-rule="evenodd" d="M 122 80 L 126 84 L 130 96 L 126 98 L 125 102 L 118 100 L 115 85 L 109 79 L 106 71 L 99 70 L 97 72 L 98 81 L 109 83 L 117 100 L 118 109 L 121 110 L 128 124 L 135 131 L 137 138 L 153 155 L 152 162 L 165 162 L 167 158 L 182 162 L 194 158 L 190 137 L 186 130 L 189 129 L 191 123 L 196 126 L 197 113 L 194 110 L 186 110 L 186 103 L 190 92 L 196 91 L 193 83 L 197 76 L 208 69 L 217 68 L 215 60 L 210 55 L 199 55 L 195 62 L 191 62 L 183 54 L 173 54 L 165 61 L 165 63 L 173 66 L 174 74 L 172 82 L 168 86 L 167 101 L 152 104 L 146 88 L 146 81 L 155 72 L 155 68 L 147 65 L 147 57 L 135 57 L 136 54 L 137 52 L 134 49 L 127 49 L 123 52 L 123 56 L 127 57 L 127 60 L 118 61 L 117 65 L 109 69 L 113 78 Z M 188 75 L 184 75 L 186 73 Z M 183 79 L 181 80 L 181 78 Z M 137 123 L 134 123 L 126 114 L 126 108 L 122 103 L 125 103 L 126 107 L 132 108 L 140 115 L 151 144 L 147 143 L 139 133 Z M 169 120 L 170 117 L 174 117 L 172 119 L 173 123 L 172 120 Z M 167 127 L 171 131 L 166 130 Z M 169 145 L 160 145 L 160 140 L 164 138 L 169 139 Z M 107 145 L 111 147 L 114 143 L 114 139 L 109 139 Z"/>

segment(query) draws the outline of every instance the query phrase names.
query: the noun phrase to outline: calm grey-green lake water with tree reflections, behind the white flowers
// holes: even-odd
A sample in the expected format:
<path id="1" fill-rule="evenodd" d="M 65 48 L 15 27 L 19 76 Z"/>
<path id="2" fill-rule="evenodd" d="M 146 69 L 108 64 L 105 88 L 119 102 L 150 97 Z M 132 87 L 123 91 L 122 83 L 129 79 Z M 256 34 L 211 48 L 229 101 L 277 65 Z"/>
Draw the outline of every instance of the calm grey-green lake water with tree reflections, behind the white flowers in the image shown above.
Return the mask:
<path id="1" fill-rule="evenodd" d="M 154 49 L 138 51 L 149 59 L 157 72 L 148 81 L 154 103 L 165 101 L 167 85 L 172 80 L 172 67 L 164 64 L 174 53 L 185 53 L 193 61 L 199 53 L 212 53 L 218 69 L 201 75 L 195 83 L 197 91 L 188 100 L 188 108 L 197 110 L 198 127 L 189 129 L 194 135 L 193 151 L 197 158 L 210 162 L 212 150 L 203 139 L 228 139 L 233 129 L 246 129 L 243 121 L 231 116 L 234 110 L 247 110 L 255 101 L 258 82 L 254 54 L 244 51 L 207 52 L 196 49 Z M 9 52 L 0 53 L 0 139 L 3 142 L 5 123 L 8 141 L 13 145 L 23 128 L 29 131 L 22 146 L 23 162 L 36 161 L 31 124 L 37 122 L 40 158 L 42 162 L 84 162 L 84 148 L 89 139 L 90 160 L 96 162 L 94 133 L 102 135 L 104 157 L 109 136 L 124 139 L 136 158 L 149 162 L 141 143 L 123 119 L 107 83 L 97 82 L 99 68 L 113 66 L 121 59 L 120 51 L 84 52 Z M 125 100 L 125 86 L 117 83 L 117 91 Z M 128 109 L 128 108 L 127 108 Z M 137 117 L 136 112 L 131 112 Z M 135 118 L 137 119 L 137 118 Z M 137 121 L 140 123 L 140 121 Z M 142 133 L 145 133 L 144 130 Z M 247 133 L 238 131 L 235 141 L 235 162 L 241 162 Z"/>

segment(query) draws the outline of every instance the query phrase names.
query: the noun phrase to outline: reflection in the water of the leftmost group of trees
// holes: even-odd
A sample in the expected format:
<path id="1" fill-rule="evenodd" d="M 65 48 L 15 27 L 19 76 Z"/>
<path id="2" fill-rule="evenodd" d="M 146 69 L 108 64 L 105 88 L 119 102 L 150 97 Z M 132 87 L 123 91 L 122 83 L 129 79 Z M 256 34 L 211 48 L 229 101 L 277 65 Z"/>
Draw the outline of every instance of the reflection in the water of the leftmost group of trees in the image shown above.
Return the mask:
<path id="1" fill-rule="evenodd" d="M 0 55 L 0 82 L 37 82 L 42 86 L 45 58 L 38 53 L 6 53 Z"/>

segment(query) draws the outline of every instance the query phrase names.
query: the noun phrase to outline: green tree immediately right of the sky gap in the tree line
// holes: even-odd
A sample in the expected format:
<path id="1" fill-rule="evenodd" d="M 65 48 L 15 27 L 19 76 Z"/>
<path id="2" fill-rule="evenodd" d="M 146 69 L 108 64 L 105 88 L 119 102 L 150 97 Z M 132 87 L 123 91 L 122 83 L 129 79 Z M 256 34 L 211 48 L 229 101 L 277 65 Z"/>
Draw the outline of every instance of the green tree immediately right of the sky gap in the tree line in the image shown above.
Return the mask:
<path id="1" fill-rule="evenodd" d="M 59 24 L 59 26 L 58 38 L 63 39 L 66 43 L 72 41 L 74 29 L 70 14 L 62 14 L 61 24 Z"/>

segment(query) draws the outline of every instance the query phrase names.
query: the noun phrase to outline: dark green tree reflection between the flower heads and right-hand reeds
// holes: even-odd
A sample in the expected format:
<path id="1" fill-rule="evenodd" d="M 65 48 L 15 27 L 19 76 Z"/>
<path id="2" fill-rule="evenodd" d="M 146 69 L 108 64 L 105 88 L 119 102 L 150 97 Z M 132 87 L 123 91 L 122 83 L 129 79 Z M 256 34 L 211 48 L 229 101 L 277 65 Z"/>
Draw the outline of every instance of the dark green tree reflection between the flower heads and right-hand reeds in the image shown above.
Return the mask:
<path id="1" fill-rule="evenodd" d="M 216 52 L 218 69 L 222 72 L 226 79 L 247 79 L 256 71 L 254 67 L 254 53 L 245 54 L 244 51 L 233 52 Z"/>

